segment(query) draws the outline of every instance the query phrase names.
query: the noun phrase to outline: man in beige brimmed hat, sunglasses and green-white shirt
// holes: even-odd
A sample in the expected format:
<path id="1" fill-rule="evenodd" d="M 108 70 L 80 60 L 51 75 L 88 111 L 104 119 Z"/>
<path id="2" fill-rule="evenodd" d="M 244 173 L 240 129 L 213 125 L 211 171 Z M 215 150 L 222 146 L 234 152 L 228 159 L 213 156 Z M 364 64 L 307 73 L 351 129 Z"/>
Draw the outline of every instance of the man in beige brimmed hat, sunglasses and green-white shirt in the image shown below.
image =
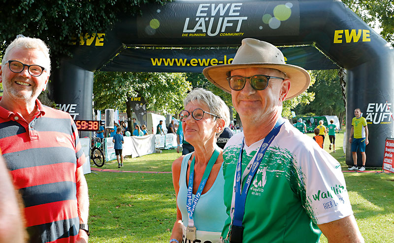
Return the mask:
<path id="1" fill-rule="evenodd" d="M 363 242 L 339 162 L 281 117 L 282 103 L 308 88 L 308 73 L 251 38 L 231 64 L 203 73 L 231 94 L 243 126 L 223 152 L 222 242 L 317 243 L 322 232 L 328 242 Z"/>

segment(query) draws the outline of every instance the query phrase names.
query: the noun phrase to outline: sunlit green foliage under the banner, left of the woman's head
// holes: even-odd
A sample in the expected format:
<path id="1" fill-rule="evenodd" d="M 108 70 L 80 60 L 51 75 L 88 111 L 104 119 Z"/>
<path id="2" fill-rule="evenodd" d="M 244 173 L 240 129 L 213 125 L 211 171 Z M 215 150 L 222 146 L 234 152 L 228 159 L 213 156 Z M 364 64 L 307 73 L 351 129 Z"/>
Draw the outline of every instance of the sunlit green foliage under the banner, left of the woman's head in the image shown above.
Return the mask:
<path id="1" fill-rule="evenodd" d="M 95 72 L 95 109 L 126 110 L 130 97 L 145 98 L 147 110 L 177 114 L 191 84 L 181 73 Z"/>

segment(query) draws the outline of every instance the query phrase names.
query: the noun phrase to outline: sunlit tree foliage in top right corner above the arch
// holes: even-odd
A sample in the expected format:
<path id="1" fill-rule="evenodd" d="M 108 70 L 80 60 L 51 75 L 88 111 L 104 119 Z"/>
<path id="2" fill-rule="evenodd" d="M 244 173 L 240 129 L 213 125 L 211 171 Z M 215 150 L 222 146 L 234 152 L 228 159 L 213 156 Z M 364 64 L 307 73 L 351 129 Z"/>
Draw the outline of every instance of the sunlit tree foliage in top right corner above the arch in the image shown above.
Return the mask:
<path id="1" fill-rule="evenodd" d="M 382 28 L 380 35 L 394 45 L 393 0 L 342 0 L 361 19 L 372 27 Z M 377 21 L 376 21 L 377 20 Z"/>

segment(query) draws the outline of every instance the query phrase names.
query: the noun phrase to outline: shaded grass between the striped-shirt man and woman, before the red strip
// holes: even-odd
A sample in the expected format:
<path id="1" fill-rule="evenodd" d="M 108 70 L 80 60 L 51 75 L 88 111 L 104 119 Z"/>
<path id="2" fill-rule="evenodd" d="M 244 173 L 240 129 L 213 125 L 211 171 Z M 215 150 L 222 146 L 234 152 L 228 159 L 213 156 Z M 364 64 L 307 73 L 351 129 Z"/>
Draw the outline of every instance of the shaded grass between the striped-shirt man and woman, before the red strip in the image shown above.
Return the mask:
<path id="1" fill-rule="evenodd" d="M 171 174 L 99 172 L 86 178 L 94 242 L 123 237 L 122 242 L 169 239 L 176 217 Z"/>

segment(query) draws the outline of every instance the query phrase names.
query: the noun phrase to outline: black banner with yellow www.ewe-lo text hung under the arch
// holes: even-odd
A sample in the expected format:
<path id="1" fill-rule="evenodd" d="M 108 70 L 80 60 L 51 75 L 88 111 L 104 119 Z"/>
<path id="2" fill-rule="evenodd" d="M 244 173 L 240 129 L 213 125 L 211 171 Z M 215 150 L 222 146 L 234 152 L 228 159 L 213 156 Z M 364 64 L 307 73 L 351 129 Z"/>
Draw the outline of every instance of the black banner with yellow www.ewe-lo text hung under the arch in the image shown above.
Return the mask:
<path id="1" fill-rule="evenodd" d="M 313 46 L 279 47 L 279 49 L 285 56 L 287 64 L 300 66 L 306 70 L 338 68 L 337 65 Z M 128 48 L 100 70 L 113 72 L 201 73 L 202 69 L 207 66 L 230 64 L 236 51 L 236 48 L 201 50 Z M 143 99 L 143 97 L 136 98 Z M 140 103 L 142 101 L 137 102 L 137 104 Z"/>

